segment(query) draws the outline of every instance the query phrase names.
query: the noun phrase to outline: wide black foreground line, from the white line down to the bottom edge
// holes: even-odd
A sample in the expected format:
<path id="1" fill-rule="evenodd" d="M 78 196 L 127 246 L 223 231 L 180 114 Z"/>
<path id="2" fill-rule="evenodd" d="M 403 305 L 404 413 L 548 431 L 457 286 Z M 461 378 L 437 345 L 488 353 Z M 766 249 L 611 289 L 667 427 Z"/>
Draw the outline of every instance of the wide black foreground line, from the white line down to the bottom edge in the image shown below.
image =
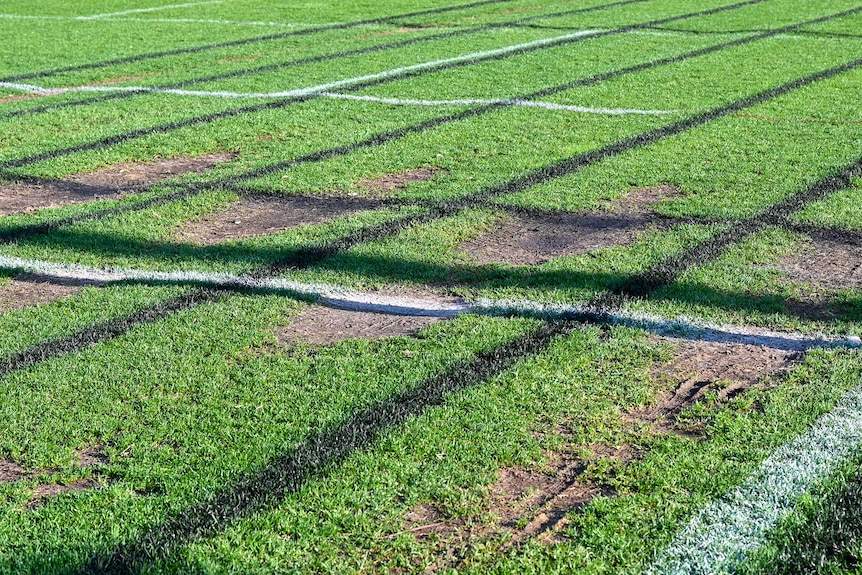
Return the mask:
<path id="1" fill-rule="evenodd" d="M 217 532 L 236 519 L 278 505 L 310 479 L 367 448 L 391 429 L 444 404 L 455 393 L 484 384 L 522 359 L 542 353 L 555 339 L 572 333 L 579 325 L 572 321 L 545 324 L 526 336 L 479 353 L 473 360 L 462 361 L 415 387 L 361 408 L 314 433 L 261 469 L 241 475 L 199 504 L 174 514 L 110 555 L 94 557 L 75 572 L 134 573 L 189 541 Z"/>

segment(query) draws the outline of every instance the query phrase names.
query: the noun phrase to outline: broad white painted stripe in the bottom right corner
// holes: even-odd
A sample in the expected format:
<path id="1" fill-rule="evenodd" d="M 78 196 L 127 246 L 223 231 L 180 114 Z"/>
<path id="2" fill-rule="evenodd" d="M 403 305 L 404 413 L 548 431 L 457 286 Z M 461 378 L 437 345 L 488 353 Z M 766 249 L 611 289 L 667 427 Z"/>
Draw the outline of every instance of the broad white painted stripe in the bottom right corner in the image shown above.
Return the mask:
<path id="1" fill-rule="evenodd" d="M 784 444 L 719 501 L 700 510 L 647 571 L 648 575 L 719 575 L 790 514 L 799 498 L 862 445 L 862 386 L 845 395 L 805 434 Z"/>

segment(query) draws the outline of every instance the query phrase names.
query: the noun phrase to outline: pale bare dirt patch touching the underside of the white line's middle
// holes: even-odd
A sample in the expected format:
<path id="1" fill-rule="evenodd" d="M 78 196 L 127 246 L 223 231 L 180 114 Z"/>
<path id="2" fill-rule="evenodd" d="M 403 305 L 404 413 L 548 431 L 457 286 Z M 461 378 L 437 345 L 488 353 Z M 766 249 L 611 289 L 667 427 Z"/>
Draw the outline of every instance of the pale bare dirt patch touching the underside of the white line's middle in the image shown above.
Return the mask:
<path id="1" fill-rule="evenodd" d="M 420 329 L 440 321 L 436 317 L 418 317 L 346 311 L 322 306 L 308 306 L 291 318 L 289 325 L 279 327 L 280 344 L 327 345 L 348 339 L 382 339 L 414 335 Z"/>

